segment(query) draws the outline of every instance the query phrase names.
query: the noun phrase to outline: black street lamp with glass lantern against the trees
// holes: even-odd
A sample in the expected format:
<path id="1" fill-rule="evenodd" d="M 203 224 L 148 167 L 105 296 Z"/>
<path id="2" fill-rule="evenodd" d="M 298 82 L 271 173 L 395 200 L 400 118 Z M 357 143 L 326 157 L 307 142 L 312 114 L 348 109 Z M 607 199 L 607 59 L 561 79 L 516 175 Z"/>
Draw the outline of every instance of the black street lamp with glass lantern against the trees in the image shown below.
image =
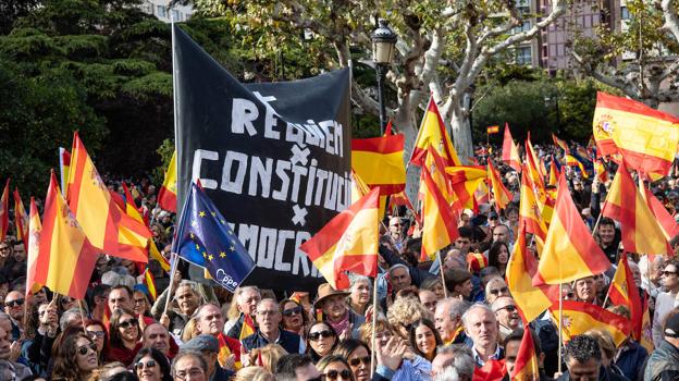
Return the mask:
<path id="1" fill-rule="evenodd" d="M 388 65 L 394 60 L 398 36 L 388 27 L 384 19 L 378 21 L 378 28 L 372 33 L 372 60 L 378 72 L 378 100 L 380 102 L 380 132 L 386 128 L 386 106 L 384 105 L 384 78 Z"/>

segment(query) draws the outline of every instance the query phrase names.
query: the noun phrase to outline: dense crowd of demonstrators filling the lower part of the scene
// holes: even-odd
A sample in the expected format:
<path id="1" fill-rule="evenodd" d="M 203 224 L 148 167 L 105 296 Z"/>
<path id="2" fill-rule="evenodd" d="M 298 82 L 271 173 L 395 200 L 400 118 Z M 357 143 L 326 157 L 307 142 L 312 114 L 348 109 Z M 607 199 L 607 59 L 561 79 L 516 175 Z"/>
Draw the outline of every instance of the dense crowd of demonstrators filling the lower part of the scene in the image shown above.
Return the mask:
<path id="1" fill-rule="evenodd" d="M 557 149 L 535 148 L 541 160 Z M 440 261 L 420 260 L 411 211 L 388 211 L 378 279 L 350 274 L 348 290 L 247 285 L 231 294 L 188 280 L 186 263 L 170 279 L 151 260 L 153 299 L 143 267 L 101 254 L 85 300 L 45 287 L 26 297 L 26 249 L 10 229 L 0 243 L 0 380 L 477 380 L 487 364 L 502 367 L 497 379 L 509 380 L 524 330 L 540 380 L 679 380 L 679 261 L 672 257 L 629 256 L 652 317 L 651 351 L 631 334 L 616 346 L 605 330 L 560 343 L 550 311 L 522 322 L 505 279 L 519 234 L 520 175 L 498 153 L 481 160 L 499 169 L 514 194 L 508 207 L 464 210 L 459 237 Z M 610 269 L 565 284 L 561 296 L 629 316 L 606 297 L 621 253 L 618 224 L 598 216 L 610 181 L 563 170 L 583 221 L 596 225 Z M 175 217 L 156 207 L 148 181 L 136 188 L 156 245 L 169 258 Z M 653 183 L 652 190 L 675 216 L 675 179 Z M 535 255 L 535 246 L 529 250 Z"/>

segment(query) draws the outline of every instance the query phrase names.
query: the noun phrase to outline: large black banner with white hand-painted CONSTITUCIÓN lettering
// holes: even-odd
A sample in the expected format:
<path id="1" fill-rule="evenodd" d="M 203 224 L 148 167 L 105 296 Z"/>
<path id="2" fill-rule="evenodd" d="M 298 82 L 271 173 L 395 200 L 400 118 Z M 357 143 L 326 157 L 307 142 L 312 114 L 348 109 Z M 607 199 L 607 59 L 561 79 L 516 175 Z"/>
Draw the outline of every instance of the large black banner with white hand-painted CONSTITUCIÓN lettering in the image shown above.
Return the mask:
<path id="1" fill-rule="evenodd" d="M 199 177 L 257 263 L 243 284 L 316 291 L 298 247 L 350 205 L 349 71 L 240 84 L 174 33 L 177 206 Z"/>

